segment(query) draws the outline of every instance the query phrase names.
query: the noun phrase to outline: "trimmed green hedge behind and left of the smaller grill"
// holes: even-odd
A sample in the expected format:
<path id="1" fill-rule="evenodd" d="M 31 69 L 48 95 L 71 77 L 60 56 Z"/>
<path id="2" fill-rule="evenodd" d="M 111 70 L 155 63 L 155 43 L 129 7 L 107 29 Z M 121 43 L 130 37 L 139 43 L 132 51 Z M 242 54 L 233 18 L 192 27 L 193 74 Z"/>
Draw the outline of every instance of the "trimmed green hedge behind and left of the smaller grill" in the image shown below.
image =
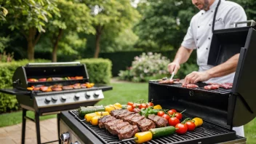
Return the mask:
<path id="1" fill-rule="evenodd" d="M 0 63 L 0 89 L 12 88 L 12 76 L 17 67 L 27 63 L 49 62 L 49 60 L 20 60 L 12 63 Z M 0 113 L 15 111 L 19 108 L 16 96 L 0 93 Z"/>

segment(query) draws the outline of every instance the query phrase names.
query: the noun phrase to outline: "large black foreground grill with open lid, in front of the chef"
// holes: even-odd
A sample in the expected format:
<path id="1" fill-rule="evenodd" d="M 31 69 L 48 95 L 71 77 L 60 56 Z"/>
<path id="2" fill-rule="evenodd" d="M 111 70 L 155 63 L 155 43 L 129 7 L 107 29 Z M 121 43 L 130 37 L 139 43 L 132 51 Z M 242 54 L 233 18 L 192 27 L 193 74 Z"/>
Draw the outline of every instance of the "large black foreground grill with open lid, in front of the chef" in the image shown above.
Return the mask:
<path id="1" fill-rule="evenodd" d="M 169 135 L 147 143 L 246 143 L 245 137 L 236 135 L 233 127 L 247 124 L 256 116 L 256 57 L 255 27 L 229 28 L 213 33 L 209 65 L 224 63 L 233 55 L 240 53 L 232 89 L 206 90 L 207 85 L 199 82 L 199 88 L 189 89 L 181 84 L 159 84 L 149 81 L 148 100 L 164 109 L 174 108 L 183 111 L 183 119 L 200 117 L 204 123 L 193 132 L 184 135 Z M 226 55 L 228 54 L 228 55 Z M 231 55 L 232 54 L 232 55 Z M 242 119 L 241 119 L 242 118 Z M 60 114 L 60 135 L 63 143 L 135 143 L 134 140 L 121 141 L 105 129 L 92 126 L 78 116 L 76 110 Z"/>

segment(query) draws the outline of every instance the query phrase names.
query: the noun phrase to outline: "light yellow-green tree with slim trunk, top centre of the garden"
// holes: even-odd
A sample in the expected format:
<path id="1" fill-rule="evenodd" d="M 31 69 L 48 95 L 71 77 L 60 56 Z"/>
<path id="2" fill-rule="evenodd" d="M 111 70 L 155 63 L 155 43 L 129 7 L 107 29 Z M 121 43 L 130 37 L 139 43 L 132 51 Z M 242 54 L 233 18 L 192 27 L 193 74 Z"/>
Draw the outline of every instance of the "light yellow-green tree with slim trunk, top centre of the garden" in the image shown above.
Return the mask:
<path id="1" fill-rule="evenodd" d="M 99 55 L 100 39 L 106 30 L 110 36 L 118 36 L 121 31 L 135 23 L 140 17 L 129 0 L 84 0 L 84 4 L 91 8 L 93 26 L 96 31 L 94 57 Z"/>

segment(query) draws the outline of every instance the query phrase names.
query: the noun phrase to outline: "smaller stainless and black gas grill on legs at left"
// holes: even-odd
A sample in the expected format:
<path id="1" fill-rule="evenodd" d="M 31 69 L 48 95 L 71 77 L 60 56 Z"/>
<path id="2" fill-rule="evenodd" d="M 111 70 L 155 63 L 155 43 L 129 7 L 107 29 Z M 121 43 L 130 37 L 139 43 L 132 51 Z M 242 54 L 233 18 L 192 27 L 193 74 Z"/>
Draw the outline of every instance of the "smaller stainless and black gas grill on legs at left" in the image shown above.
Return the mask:
<path id="1" fill-rule="evenodd" d="M 28 80 L 42 78 L 44 81 Z M 45 79 L 48 80 L 45 81 Z M 0 89 L 0 92 L 16 95 L 20 107 L 23 108 L 22 143 L 25 143 L 26 119 L 36 123 L 37 143 L 41 143 L 39 116 L 57 113 L 57 121 L 59 122 L 60 111 L 76 109 L 81 105 L 95 105 L 104 98 L 103 91 L 112 89 L 112 87 L 103 84 L 95 84 L 93 87 L 51 90 L 50 92 L 42 92 L 38 89 L 28 90 L 28 87 L 42 87 L 42 85 L 50 87 L 57 84 L 72 87 L 74 84 L 89 83 L 86 65 L 79 62 L 28 63 L 16 69 L 12 81 L 13 89 Z M 26 111 L 34 111 L 35 119 L 26 116 Z"/>

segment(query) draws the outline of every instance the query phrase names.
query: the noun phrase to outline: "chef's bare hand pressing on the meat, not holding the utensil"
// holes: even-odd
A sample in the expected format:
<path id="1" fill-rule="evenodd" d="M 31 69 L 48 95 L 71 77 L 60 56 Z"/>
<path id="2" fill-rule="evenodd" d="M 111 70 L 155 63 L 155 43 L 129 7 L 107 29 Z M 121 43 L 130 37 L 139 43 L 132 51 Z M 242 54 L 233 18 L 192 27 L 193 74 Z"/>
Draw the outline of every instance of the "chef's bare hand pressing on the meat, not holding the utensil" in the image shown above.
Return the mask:
<path id="1" fill-rule="evenodd" d="M 195 84 L 198 81 L 207 81 L 211 79 L 208 71 L 193 71 L 192 73 L 185 76 L 183 84 Z"/>

